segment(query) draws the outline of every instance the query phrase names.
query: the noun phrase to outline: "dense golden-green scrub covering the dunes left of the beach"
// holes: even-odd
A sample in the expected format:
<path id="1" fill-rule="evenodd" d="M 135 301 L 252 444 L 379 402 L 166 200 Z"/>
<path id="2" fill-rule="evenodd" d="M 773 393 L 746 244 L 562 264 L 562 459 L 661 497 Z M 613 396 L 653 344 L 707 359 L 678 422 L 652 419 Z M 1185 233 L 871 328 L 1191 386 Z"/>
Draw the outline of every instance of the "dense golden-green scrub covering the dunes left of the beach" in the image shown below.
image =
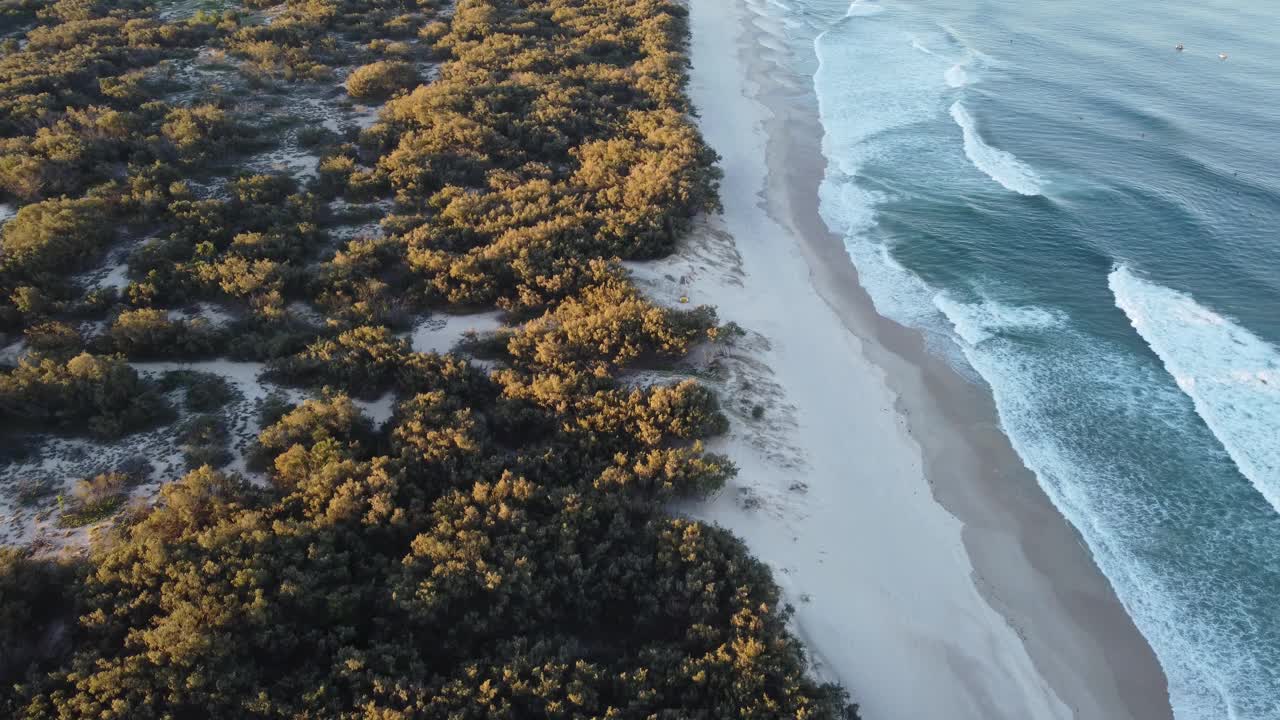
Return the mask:
<path id="1" fill-rule="evenodd" d="M 78 511 L 125 507 L 87 559 L 0 553 L 0 714 L 854 716 L 806 675 L 767 569 L 663 510 L 733 473 L 701 445 L 726 429 L 714 395 L 617 379 L 718 336 L 713 310 L 655 306 L 617 263 L 717 206 L 685 12 L 255 5 L 0 8 L 27 41 L 0 55 L 0 201 L 20 206 L 0 331 L 26 341 L 0 433 L 114 438 L 182 413 L 192 468 L 152 505 L 125 502 L 122 469 L 84 478 Z M 166 94 L 165 63 L 197 51 L 262 94 L 390 100 L 362 132 L 300 132 L 323 155 L 306 182 L 241 172 L 270 142 L 260 108 Z M 428 60 L 438 77 L 413 88 Z M 337 236 L 361 218 L 380 232 Z M 123 288 L 73 278 L 133 237 Z M 184 314 L 197 302 L 232 323 Z M 399 334 L 460 305 L 507 313 L 475 342 L 492 369 Z M 312 393 L 264 405 L 255 483 L 215 469 L 225 383 L 129 364 L 219 356 Z M 383 392 L 375 425 L 353 398 Z"/>

